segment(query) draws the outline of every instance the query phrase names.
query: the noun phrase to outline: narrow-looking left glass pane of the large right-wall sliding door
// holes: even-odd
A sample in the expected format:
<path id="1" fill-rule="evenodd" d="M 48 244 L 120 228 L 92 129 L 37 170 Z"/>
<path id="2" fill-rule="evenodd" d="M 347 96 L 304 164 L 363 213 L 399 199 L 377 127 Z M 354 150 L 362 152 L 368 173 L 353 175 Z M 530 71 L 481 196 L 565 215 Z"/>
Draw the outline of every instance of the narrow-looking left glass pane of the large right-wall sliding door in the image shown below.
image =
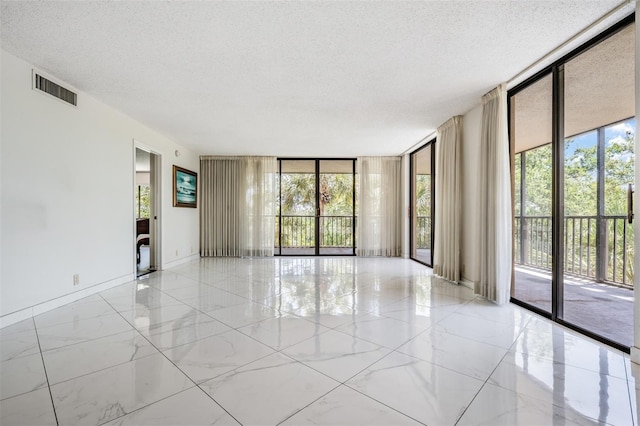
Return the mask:
<path id="1" fill-rule="evenodd" d="M 552 76 L 511 97 L 515 282 L 512 296 L 551 312 Z"/>

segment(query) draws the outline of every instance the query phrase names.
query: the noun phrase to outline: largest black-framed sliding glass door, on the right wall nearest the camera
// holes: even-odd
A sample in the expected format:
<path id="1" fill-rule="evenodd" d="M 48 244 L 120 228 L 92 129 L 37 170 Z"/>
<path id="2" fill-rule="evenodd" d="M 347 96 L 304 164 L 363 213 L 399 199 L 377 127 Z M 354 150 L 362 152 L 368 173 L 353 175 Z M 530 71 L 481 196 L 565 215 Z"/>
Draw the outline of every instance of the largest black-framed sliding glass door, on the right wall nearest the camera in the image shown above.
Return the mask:
<path id="1" fill-rule="evenodd" d="M 633 340 L 635 24 L 509 93 L 512 297 L 628 349 Z"/>

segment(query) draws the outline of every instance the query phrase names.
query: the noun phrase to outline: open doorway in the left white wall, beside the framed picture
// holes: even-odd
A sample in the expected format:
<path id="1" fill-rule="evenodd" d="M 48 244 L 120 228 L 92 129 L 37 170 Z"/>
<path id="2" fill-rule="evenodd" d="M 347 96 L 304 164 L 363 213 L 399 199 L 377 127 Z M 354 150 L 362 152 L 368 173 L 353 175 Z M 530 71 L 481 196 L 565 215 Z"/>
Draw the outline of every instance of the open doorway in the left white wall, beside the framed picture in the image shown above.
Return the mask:
<path id="1" fill-rule="evenodd" d="M 136 276 L 157 270 L 159 262 L 160 156 L 135 146 L 134 252 Z"/>

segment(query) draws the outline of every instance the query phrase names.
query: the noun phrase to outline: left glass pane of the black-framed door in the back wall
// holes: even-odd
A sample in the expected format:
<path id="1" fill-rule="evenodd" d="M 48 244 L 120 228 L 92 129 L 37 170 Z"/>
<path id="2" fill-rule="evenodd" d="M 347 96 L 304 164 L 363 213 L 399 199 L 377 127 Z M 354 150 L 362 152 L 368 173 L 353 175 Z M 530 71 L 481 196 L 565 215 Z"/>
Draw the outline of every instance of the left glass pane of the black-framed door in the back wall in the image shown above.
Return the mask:
<path id="1" fill-rule="evenodd" d="M 316 162 L 281 161 L 282 254 L 315 254 Z"/>

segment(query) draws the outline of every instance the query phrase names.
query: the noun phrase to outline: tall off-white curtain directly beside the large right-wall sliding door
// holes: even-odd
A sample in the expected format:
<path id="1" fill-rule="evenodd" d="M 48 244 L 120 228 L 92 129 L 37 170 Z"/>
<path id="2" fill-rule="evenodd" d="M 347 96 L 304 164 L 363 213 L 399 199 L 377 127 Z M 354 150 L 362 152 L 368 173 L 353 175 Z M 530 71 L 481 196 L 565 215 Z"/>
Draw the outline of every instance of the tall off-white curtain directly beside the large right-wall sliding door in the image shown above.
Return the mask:
<path id="1" fill-rule="evenodd" d="M 479 280 L 475 292 L 497 303 L 511 288 L 511 171 L 504 85 L 482 97 L 478 191 Z"/>

